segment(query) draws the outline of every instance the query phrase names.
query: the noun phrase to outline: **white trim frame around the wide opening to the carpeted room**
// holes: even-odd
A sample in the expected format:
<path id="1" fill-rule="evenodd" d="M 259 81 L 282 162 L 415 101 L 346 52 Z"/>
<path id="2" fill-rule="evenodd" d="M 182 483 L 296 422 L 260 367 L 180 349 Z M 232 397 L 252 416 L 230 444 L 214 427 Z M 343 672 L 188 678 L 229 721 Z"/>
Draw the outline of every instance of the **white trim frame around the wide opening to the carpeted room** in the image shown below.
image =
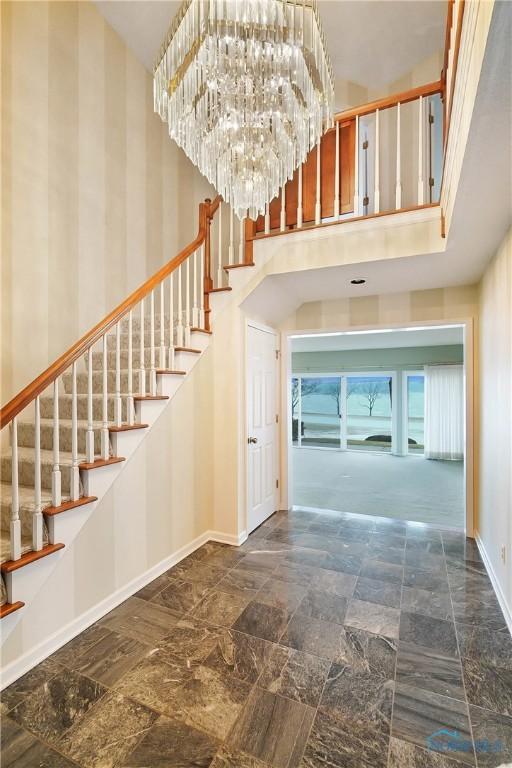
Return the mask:
<path id="1" fill-rule="evenodd" d="M 371 333 L 382 332 L 383 329 L 394 331 L 412 328 L 446 328 L 460 326 L 463 332 L 464 346 L 464 508 L 466 536 L 474 538 L 477 520 L 477 472 L 475 461 L 475 433 L 477 423 L 476 413 L 476 376 L 477 361 L 475 356 L 475 321 L 472 317 L 442 318 L 439 320 L 406 320 L 400 323 L 373 323 L 371 325 L 352 325 L 326 328 L 304 328 L 287 330 L 281 334 L 281 402 L 282 413 L 286 419 L 281 419 L 281 509 L 291 509 L 293 499 L 293 466 L 292 446 L 290 436 L 291 424 L 291 393 L 288 382 L 292 374 L 291 340 L 300 336 L 325 336 L 339 333 Z"/>

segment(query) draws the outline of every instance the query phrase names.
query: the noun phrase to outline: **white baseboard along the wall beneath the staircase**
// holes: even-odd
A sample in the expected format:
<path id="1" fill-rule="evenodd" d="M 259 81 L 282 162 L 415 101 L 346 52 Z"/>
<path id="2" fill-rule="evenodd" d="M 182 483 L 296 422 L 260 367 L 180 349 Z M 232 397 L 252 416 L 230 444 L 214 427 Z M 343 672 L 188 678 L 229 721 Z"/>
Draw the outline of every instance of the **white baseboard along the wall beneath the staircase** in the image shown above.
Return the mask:
<path id="1" fill-rule="evenodd" d="M 217 541 L 221 544 L 239 546 L 246 540 L 246 538 L 247 533 L 245 531 L 239 536 L 222 533 L 220 531 L 205 531 L 205 533 L 197 536 L 197 538 L 193 539 L 189 544 L 181 547 L 172 555 L 161 560 L 149 570 L 145 571 L 140 576 L 137 576 L 135 579 L 132 579 L 104 600 L 92 606 L 92 608 L 89 608 L 85 613 L 82 613 L 76 619 L 70 621 L 69 624 L 66 624 L 66 626 L 36 645 L 35 648 L 32 648 L 18 659 L 15 659 L 10 664 L 4 666 L 0 672 L 0 690 L 3 690 L 26 672 L 29 672 L 37 664 L 40 664 L 41 661 L 44 661 L 44 659 L 51 656 L 52 653 L 55 653 L 59 648 L 62 648 L 63 645 L 69 643 L 69 641 L 79 635 L 80 632 L 83 632 L 96 621 L 99 621 L 99 619 L 109 613 L 109 611 L 112 611 L 120 603 L 127 600 L 138 592 L 139 589 L 145 587 L 146 584 L 149 584 L 162 573 L 168 571 L 169 568 L 172 568 L 173 565 L 179 563 L 180 560 L 183 560 L 183 558 L 192 554 L 192 552 L 195 552 L 196 549 L 202 547 L 207 541 Z"/>

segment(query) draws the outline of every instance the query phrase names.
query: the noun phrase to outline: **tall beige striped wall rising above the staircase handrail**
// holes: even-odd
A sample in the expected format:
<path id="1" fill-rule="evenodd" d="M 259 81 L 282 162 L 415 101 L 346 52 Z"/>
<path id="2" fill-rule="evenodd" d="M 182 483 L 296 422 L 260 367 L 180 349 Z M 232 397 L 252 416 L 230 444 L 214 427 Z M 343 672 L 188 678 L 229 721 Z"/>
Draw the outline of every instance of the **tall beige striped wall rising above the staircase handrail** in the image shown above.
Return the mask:
<path id="1" fill-rule="evenodd" d="M 91 2 L 2 2 L 5 403 L 189 242 L 209 187 Z"/>

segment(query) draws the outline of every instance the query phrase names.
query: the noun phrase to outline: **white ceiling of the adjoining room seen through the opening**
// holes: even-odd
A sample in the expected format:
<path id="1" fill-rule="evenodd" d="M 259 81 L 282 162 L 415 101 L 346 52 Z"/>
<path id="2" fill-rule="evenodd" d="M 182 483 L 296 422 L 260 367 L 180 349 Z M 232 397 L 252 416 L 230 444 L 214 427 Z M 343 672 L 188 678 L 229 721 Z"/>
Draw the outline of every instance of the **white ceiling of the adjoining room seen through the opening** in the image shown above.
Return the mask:
<path id="1" fill-rule="evenodd" d="M 409 328 L 379 333 L 348 332 L 292 337 L 293 352 L 339 352 L 349 349 L 398 349 L 402 347 L 439 347 L 462 344 L 461 326 L 446 328 Z"/>

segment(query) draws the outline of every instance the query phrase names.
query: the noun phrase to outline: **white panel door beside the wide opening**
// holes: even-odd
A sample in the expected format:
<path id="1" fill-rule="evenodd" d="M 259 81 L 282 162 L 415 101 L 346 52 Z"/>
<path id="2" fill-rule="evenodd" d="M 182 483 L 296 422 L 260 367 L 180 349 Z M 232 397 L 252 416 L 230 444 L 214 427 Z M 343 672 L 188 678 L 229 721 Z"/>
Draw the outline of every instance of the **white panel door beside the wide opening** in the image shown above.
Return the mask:
<path id="1" fill-rule="evenodd" d="M 277 334 L 247 329 L 247 532 L 276 511 Z"/>

